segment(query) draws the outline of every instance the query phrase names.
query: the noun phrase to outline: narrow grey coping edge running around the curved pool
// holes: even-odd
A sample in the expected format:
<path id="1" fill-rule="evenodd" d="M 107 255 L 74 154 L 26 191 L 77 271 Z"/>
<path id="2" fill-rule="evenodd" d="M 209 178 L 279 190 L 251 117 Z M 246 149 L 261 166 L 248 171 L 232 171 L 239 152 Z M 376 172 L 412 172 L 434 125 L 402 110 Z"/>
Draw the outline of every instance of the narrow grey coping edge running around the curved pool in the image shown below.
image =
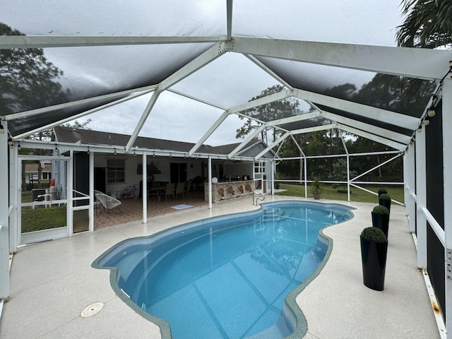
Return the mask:
<path id="1" fill-rule="evenodd" d="M 303 314 L 302 309 L 297 304 L 296 298 L 304 290 L 304 288 L 306 288 L 309 285 L 309 283 L 311 283 L 321 273 L 321 270 L 328 262 L 328 258 L 331 256 L 331 251 L 333 251 L 333 239 L 331 239 L 331 237 L 328 237 L 326 234 L 324 234 L 323 230 L 325 230 L 326 228 L 331 227 L 331 226 L 340 225 L 340 224 L 347 222 L 347 221 L 351 220 L 352 218 L 354 218 L 355 215 L 352 213 L 352 210 L 355 209 L 354 207 L 346 206 L 346 205 L 343 205 L 340 203 L 323 203 L 321 201 L 299 201 L 299 200 L 269 201 L 266 203 L 261 203 L 261 206 L 259 206 L 259 208 L 256 210 L 251 210 L 251 211 L 246 211 L 246 212 L 238 212 L 238 213 L 227 213 L 225 215 L 217 215 L 217 216 L 208 217 L 208 218 L 201 218 L 201 219 L 194 220 L 191 222 L 185 222 L 185 223 L 182 223 L 179 225 L 174 225 L 172 227 L 166 228 L 165 230 L 160 230 L 153 234 L 150 234 L 150 235 L 147 235 L 144 237 L 136 237 L 134 239 L 149 239 L 149 238 L 157 237 L 158 235 L 168 232 L 169 230 L 183 228 L 184 226 L 191 225 L 196 222 L 203 223 L 205 220 L 215 220 L 215 219 L 218 220 L 221 218 L 231 217 L 234 215 L 259 214 L 262 212 L 262 205 L 264 205 L 264 206 L 265 205 L 278 205 L 278 204 L 285 204 L 285 203 L 302 203 L 302 204 L 308 205 L 308 206 L 309 205 L 311 205 L 311 206 L 322 205 L 323 207 L 326 207 L 326 208 L 328 208 L 330 206 L 340 206 L 340 208 L 348 210 L 348 212 L 351 215 L 350 219 L 347 219 L 343 222 L 326 225 L 325 227 L 322 227 L 319 230 L 319 235 L 321 237 L 323 237 L 323 239 L 326 239 L 326 241 L 328 242 L 328 248 L 326 250 L 325 256 L 323 257 L 323 260 L 321 261 L 321 263 L 319 263 L 319 266 L 316 268 L 316 270 L 314 270 L 314 273 L 309 275 L 309 277 L 306 280 L 304 280 L 304 282 L 301 285 L 299 285 L 298 287 L 295 287 L 295 289 L 292 290 L 287 295 L 287 297 L 285 297 L 285 302 L 283 304 L 283 309 L 281 310 L 281 312 L 284 314 L 287 321 L 291 322 L 291 325 L 294 328 L 294 331 L 290 335 L 287 335 L 284 339 L 299 339 L 299 338 L 303 338 L 304 335 L 307 334 L 307 320 Z M 110 270 L 109 283 L 110 283 L 110 286 L 112 287 L 112 289 L 114 290 L 114 292 L 116 293 L 116 295 L 137 314 L 139 314 L 143 318 L 147 319 L 148 321 L 155 323 L 160 328 L 160 334 L 162 336 L 162 339 L 172 339 L 171 327 L 169 326 L 169 323 L 167 321 L 165 321 L 165 319 L 161 319 L 161 318 L 158 318 L 157 316 L 153 316 L 152 314 L 149 314 L 148 312 L 141 309 L 141 307 L 139 307 L 135 302 L 133 302 L 130 299 L 129 295 L 127 295 L 126 292 L 124 292 L 124 290 L 122 290 L 121 287 L 119 287 L 119 285 L 117 284 L 117 275 L 119 272 L 119 268 L 117 268 L 116 266 L 100 266 L 100 264 L 99 264 L 100 261 L 102 261 L 102 259 L 105 258 L 105 256 L 107 256 L 109 253 L 114 251 L 114 249 L 117 249 L 117 247 L 121 246 L 121 244 L 130 242 L 130 241 L 131 241 L 131 239 L 124 239 L 121 242 L 118 242 L 114 246 L 110 247 L 109 249 L 107 249 L 107 251 L 103 252 L 100 256 L 95 258 L 93 263 L 91 263 L 91 267 L 96 268 L 96 269 L 102 269 L 102 270 Z"/>

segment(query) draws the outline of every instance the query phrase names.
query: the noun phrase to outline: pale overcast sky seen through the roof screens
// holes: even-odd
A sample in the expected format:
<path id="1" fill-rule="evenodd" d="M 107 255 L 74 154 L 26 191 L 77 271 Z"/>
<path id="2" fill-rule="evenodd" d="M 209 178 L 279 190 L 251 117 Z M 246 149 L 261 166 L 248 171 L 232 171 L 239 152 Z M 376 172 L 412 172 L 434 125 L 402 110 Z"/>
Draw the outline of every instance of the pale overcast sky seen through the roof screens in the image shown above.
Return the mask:
<path id="1" fill-rule="evenodd" d="M 102 1 L 88 0 L 0 0 L 0 22 L 27 35 L 220 35 L 226 28 L 225 3 L 137 0 L 130 6 L 127 1 L 118 0 L 105 6 Z M 237 36 L 395 46 L 396 26 L 401 23 L 399 4 L 394 0 L 237 0 L 232 32 Z M 190 53 L 198 53 L 191 47 L 165 46 L 158 54 L 154 50 L 157 47 L 47 48 L 44 54 L 64 71 L 61 83 L 78 95 L 85 95 L 95 88 L 107 90 L 144 79 L 149 73 L 158 75 L 165 60 L 174 61 L 184 55 L 189 58 Z M 129 78 L 123 76 L 126 72 Z M 349 79 L 347 74 L 353 77 L 353 73 L 345 73 L 332 73 L 329 68 L 323 74 L 317 69 L 312 74 L 307 70 L 304 76 L 324 79 L 330 85 L 350 81 L 362 85 L 372 76 L 364 74 L 362 78 Z M 277 83 L 246 57 L 225 54 L 177 83 L 174 89 L 227 108 L 247 102 Z M 92 120 L 88 127 L 130 134 L 149 99 L 150 95 L 144 95 L 92 114 L 85 118 Z M 223 109 L 165 92 L 140 135 L 196 143 L 222 112 Z M 229 117 L 206 143 L 238 142 L 235 131 L 243 123 L 238 117 Z"/>

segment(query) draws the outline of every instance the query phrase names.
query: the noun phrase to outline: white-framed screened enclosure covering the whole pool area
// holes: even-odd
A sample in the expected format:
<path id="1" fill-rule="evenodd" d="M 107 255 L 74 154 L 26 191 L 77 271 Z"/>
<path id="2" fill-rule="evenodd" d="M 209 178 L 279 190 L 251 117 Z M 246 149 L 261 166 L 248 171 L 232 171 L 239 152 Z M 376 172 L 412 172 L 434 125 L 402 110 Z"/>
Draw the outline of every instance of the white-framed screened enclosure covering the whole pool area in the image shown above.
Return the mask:
<path id="1" fill-rule="evenodd" d="M 22 243 L 28 160 L 59 169 L 60 179 L 52 179 L 66 192 L 57 200 L 66 228 L 51 237 L 67 237 L 83 209 L 93 231 L 99 153 L 141 157 L 144 185 L 151 155 L 203 161 L 207 185 L 213 160 L 249 162 L 266 168 L 266 194 L 274 194 L 277 179 L 284 182 L 278 167 L 289 161 L 298 172 L 290 180 L 307 187 L 320 171 L 309 160 L 341 158 L 347 168 L 341 181 L 350 190 L 377 167 L 403 159 L 400 182 L 417 266 L 433 287 L 439 329 L 452 338 L 452 52 L 396 47 L 398 6 L 389 0 L 4 2 L 0 299 L 10 290 L 9 254 Z M 64 124 L 127 140 L 59 143 L 52 128 Z M 334 136 L 337 147 L 315 135 Z M 140 137 L 191 147 L 148 147 Z M 261 151 L 247 153 L 259 140 Z M 73 186 L 80 154 L 88 159 L 84 196 Z M 386 160 L 350 175 L 353 159 L 376 155 Z"/>

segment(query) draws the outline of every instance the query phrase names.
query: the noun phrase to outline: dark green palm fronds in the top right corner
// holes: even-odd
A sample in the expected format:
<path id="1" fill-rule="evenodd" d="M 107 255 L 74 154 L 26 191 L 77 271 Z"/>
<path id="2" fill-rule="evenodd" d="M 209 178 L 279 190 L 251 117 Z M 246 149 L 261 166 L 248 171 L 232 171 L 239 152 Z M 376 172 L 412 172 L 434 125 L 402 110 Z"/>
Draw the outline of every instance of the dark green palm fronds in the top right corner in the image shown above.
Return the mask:
<path id="1" fill-rule="evenodd" d="M 397 27 L 400 47 L 436 48 L 452 44 L 451 0 L 403 0 L 405 21 Z"/>

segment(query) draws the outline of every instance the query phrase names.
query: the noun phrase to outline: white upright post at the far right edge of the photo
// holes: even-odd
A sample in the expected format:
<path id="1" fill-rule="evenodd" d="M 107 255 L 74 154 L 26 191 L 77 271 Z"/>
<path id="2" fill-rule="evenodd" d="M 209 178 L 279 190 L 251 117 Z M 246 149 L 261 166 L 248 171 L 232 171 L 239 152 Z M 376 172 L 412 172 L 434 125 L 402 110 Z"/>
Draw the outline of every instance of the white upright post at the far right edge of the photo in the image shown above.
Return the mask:
<path id="1" fill-rule="evenodd" d="M 443 172 L 444 172 L 444 235 L 446 248 L 444 253 L 446 331 L 447 338 L 452 338 L 452 79 L 443 82 Z"/>

